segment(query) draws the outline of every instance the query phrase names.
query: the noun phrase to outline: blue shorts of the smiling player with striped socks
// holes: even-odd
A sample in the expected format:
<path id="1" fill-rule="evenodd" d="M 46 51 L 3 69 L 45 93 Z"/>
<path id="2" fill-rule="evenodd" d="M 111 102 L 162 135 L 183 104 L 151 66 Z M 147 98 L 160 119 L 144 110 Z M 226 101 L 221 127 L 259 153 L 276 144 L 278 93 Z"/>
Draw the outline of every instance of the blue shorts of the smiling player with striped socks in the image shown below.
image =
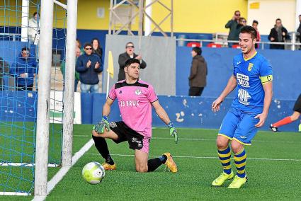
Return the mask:
<path id="1" fill-rule="evenodd" d="M 230 108 L 222 120 L 218 134 L 241 144 L 251 145 L 251 139 L 258 131 L 255 125 L 259 122 L 259 118 L 255 119 L 256 115 L 258 113 L 244 113 L 242 110 Z"/>

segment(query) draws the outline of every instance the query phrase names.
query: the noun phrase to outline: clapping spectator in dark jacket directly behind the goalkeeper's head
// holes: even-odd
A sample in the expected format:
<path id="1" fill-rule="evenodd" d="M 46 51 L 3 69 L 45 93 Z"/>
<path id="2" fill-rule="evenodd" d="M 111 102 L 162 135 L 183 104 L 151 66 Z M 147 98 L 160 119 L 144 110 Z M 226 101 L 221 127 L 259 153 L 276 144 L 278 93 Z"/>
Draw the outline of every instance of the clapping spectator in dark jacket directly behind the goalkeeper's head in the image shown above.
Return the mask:
<path id="1" fill-rule="evenodd" d="M 135 51 L 134 43 L 127 42 L 127 44 L 125 45 L 125 52 L 123 54 L 119 54 L 118 81 L 125 79 L 124 68 L 125 68 L 125 62 L 127 61 L 127 59 L 130 59 L 130 58 L 138 59 L 140 61 L 140 69 L 145 69 L 147 67 L 147 63 L 145 63 L 144 60 L 142 59 L 142 55 L 141 54 L 137 55 L 134 53 L 134 51 Z"/>

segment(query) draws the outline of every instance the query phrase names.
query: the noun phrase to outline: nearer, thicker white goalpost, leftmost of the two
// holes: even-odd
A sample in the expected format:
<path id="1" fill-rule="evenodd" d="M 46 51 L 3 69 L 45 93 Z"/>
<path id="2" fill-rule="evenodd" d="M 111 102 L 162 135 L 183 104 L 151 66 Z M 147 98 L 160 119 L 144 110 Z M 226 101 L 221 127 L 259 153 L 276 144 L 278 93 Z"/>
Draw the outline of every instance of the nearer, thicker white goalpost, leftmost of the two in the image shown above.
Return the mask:
<path id="1" fill-rule="evenodd" d="M 47 195 L 53 1 L 41 1 L 35 196 Z"/>

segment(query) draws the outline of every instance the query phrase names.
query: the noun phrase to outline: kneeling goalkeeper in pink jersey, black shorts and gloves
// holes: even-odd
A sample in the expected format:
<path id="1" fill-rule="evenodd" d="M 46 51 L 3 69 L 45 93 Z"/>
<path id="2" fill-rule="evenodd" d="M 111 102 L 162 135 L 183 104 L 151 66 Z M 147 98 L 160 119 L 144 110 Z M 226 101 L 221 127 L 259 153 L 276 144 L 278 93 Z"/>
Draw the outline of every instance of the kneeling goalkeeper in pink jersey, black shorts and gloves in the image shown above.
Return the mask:
<path id="1" fill-rule="evenodd" d="M 155 159 L 148 159 L 149 142 L 152 139 L 152 107 L 160 119 L 169 127 L 174 141 L 178 142 L 178 133 L 173 123 L 161 107 L 158 97 L 152 85 L 139 79 L 140 61 L 128 59 L 125 62 L 125 80 L 118 81 L 110 89 L 110 93 L 103 105 L 103 117 L 101 122 L 93 127 L 92 138 L 96 149 L 106 161 L 103 167 L 106 170 L 115 170 L 116 163 L 108 151 L 106 138 L 115 143 L 127 141 L 130 149 L 135 150 L 135 165 L 138 172 L 151 172 L 162 164 L 169 171 L 176 173 L 178 168 L 170 153 L 164 153 Z M 109 122 L 110 106 L 115 99 L 122 121 Z"/>

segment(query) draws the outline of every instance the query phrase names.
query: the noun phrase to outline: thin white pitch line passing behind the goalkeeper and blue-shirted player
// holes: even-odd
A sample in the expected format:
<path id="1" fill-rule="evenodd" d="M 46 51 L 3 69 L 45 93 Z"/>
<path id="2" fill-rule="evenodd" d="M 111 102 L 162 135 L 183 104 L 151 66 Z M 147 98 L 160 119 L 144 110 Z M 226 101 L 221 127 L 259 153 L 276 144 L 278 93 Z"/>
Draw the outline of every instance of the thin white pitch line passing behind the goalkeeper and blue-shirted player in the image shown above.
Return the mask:
<path id="1" fill-rule="evenodd" d="M 99 154 L 89 154 L 84 155 L 99 155 Z M 135 156 L 133 154 L 110 154 L 111 156 Z M 159 156 L 149 156 L 149 157 L 159 157 Z M 173 158 L 186 158 L 186 159 L 218 159 L 216 156 L 173 156 Z M 233 158 L 231 158 L 233 159 Z M 247 160 L 258 160 L 258 161 L 301 161 L 301 159 L 264 159 L 264 158 L 247 158 Z"/>

